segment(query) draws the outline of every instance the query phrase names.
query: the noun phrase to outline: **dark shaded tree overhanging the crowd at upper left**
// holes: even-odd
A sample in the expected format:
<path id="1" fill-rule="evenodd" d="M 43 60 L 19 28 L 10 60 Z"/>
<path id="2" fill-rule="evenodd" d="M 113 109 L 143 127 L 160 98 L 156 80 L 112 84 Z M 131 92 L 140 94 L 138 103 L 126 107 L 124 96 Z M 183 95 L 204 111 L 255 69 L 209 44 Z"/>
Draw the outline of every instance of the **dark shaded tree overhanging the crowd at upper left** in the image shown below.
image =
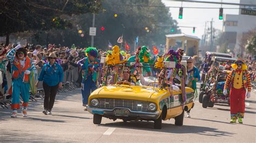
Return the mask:
<path id="1" fill-rule="evenodd" d="M 62 18 L 63 15 L 98 12 L 101 9 L 101 2 L 0 0 L 0 8 L 0 35 L 6 36 L 6 44 L 8 44 L 11 33 L 71 27 L 69 20 Z"/>

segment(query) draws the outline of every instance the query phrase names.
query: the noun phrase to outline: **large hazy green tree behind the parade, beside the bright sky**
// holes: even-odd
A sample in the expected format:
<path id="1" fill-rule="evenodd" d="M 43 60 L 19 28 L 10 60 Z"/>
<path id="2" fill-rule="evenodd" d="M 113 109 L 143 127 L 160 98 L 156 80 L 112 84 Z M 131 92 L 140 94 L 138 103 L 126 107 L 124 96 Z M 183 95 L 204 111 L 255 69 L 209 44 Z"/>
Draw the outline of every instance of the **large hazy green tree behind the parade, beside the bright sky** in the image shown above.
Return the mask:
<path id="1" fill-rule="evenodd" d="M 148 6 L 146 6 L 148 5 Z M 156 5 L 158 7 L 151 7 Z M 165 44 L 165 35 L 171 34 L 171 27 L 174 33 L 180 33 L 177 22 L 172 19 L 169 8 L 158 0 L 111 0 L 102 2 L 103 10 L 96 15 L 95 26 L 97 35 L 95 46 L 106 48 L 108 41 L 113 45 L 117 44 L 117 38 L 123 34 L 123 38 L 133 49 L 134 39 L 139 36 L 139 45 Z M 117 17 L 114 17 L 117 14 Z M 62 45 L 79 45 L 81 47 L 90 46 L 91 37 L 89 27 L 92 26 L 92 14 L 72 16 L 72 28 L 66 30 L 52 30 L 48 34 L 37 33 L 37 42 L 45 43 L 49 39 L 51 43 Z M 100 27 L 105 30 L 101 31 Z M 149 32 L 145 30 L 148 28 Z M 78 30 L 82 30 L 84 37 L 80 36 Z M 47 35 L 49 38 L 47 38 Z M 120 46 L 120 44 L 118 44 Z M 123 44 L 124 47 L 124 44 Z"/>

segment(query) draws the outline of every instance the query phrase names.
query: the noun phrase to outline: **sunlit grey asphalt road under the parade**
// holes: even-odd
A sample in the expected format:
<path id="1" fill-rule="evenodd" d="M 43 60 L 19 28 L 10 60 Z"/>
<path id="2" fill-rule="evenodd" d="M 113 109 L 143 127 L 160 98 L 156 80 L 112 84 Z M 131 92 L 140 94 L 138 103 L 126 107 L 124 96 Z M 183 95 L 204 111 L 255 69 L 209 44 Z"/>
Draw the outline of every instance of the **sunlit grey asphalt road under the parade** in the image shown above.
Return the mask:
<path id="1" fill-rule="evenodd" d="M 197 100 L 183 126 L 171 119 L 156 130 L 151 121 L 106 118 L 94 125 L 93 116 L 83 111 L 79 89 L 57 95 L 52 115 L 42 110 L 42 99 L 29 105 L 28 118 L 21 110 L 18 118 L 10 118 L 10 109 L 0 109 L 0 142 L 256 142 L 255 92 L 246 99 L 244 124 L 229 123 L 229 106 L 204 109 Z"/>

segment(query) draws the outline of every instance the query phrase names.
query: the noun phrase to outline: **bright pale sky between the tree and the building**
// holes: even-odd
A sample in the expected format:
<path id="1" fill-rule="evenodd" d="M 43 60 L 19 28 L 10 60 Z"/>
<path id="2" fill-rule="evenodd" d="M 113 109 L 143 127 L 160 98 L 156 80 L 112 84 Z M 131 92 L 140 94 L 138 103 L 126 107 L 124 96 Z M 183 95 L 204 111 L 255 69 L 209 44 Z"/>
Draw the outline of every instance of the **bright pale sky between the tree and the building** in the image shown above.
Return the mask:
<path id="1" fill-rule="evenodd" d="M 181 2 L 172 0 L 161 0 L 166 6 L 181 6 Z M 203 0 L 200 0 L 203 1 Z M 221 0 L 204 0 L 208 2 L 221 2 Z M 239 3 L 240 0 L 222 0 L 223 3 Z M 220 8 L 220 4 L 208 3 L 191 3 L 183 2 L 183 7 L 204 7 L 204 8 Z M 239 8 L 238 5 L 222 5 L 223 15 L 231 14 L 238 15 L 238 9 L 225 9 L 225 8 Z M 182 33 L 194 35 L 201 39 L 204 34 L 205 22 L 206 27 L 210 27 L 210 21 L 213 18 L 213 27 L 222 31 L 223 20 L 219 20 L 219 9 L 186 9 L 183 8 L 183 19 L 179 19 L 179 8 L 170 8 L 172 18 L 177 20 L 178 26 L 191 26 L 196 27 L 195 33 L 193 28 L 180 27 Z"/>

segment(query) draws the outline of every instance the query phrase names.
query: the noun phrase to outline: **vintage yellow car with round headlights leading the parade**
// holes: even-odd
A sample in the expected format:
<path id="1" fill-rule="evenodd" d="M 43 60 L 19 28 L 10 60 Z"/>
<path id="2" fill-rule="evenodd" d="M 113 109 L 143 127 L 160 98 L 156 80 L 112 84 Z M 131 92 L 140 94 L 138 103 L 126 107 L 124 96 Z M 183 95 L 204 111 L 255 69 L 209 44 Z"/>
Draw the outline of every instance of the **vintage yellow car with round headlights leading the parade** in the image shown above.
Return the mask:
<path id="1" fill-rule="evenodd" d="M 93 114 L 93 123 L 102 117 L 109 119 L 154 121 L 160 129 L 162 120 L 174 118 L 175 125 L 183 125 L 184 111 L 194 106 L 193 89 L 180 90 L 163 87 L 107 85 L 92 92 L 87 110 Z M 185 98 L 185 99 L 184 99 Z"/>

